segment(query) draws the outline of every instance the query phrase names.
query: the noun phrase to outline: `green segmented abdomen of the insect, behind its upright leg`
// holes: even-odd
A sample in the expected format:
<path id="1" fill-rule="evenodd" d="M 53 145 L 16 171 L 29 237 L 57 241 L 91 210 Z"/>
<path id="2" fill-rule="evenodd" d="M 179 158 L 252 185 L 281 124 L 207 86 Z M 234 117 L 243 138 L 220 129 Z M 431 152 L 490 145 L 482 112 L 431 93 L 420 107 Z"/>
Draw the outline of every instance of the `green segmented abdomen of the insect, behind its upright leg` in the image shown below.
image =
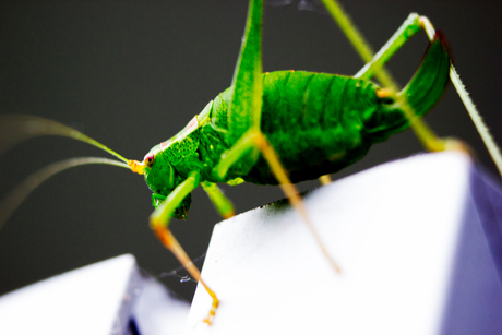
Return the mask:
<path id="1" fill-rule="evenodd" d="M 336 172 L 368 152 L 360 116 L 376 108 L 373 83 L 303 71 L 266 73 L 263 83 L 261 128 L 292 182 Z M 242 178 L 277 183 L 263 158 Z"/>

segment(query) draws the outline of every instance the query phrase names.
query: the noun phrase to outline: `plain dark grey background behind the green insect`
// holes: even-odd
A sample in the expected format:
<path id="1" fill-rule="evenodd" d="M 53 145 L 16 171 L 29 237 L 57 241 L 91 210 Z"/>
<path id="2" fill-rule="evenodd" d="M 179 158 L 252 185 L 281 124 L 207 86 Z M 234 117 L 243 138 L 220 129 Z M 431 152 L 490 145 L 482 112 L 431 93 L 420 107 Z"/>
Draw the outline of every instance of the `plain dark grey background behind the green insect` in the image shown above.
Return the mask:
<path id="1" fill-rule="evenodd" d="M 428 15 L 449 38 L 467 88 L 502 143 L 499 1 L 344 2 L 374 49 L 408 13 Z M 128 158 L 141 159 L 229 86 L 246 12 L 243 0 L 2 1 L 0 112 L 58 120 Z M 326 15 L 292 5 L 266 8 L 263 31 L 265 71 L 354 74 L 362 65 Z M 417 69 L 426 46 L 420 35 L 391 61 L 402 84 Z M 465 140 L 494 171 L 453 88 L 427 120 L 440 135 Z M 406 131 L 375 145 L 334 178 L 421 151 Z M 0 196 L 49 163 L 88 155 L 107 156 L 61 137 L 19 145 L 0 158 Z M 316 186 L 313 181 L 300 188 Z M 283 198 L 271 187 L 225 189 L 238 213 Z M 147 226 L 151 212 L 143 179 L 124 169 L 80 167 L 53 177 L 0 231 L 0 294 L 128 252 L 154 275 L 178 267 Z M 196 190 L 189 219 L 174 220 L 171 227 L 195 258 L 205 252 L 218 220 L 205 194 Z M 166 282 L 189 299 L 195 288 L 175 277 Z"/>

